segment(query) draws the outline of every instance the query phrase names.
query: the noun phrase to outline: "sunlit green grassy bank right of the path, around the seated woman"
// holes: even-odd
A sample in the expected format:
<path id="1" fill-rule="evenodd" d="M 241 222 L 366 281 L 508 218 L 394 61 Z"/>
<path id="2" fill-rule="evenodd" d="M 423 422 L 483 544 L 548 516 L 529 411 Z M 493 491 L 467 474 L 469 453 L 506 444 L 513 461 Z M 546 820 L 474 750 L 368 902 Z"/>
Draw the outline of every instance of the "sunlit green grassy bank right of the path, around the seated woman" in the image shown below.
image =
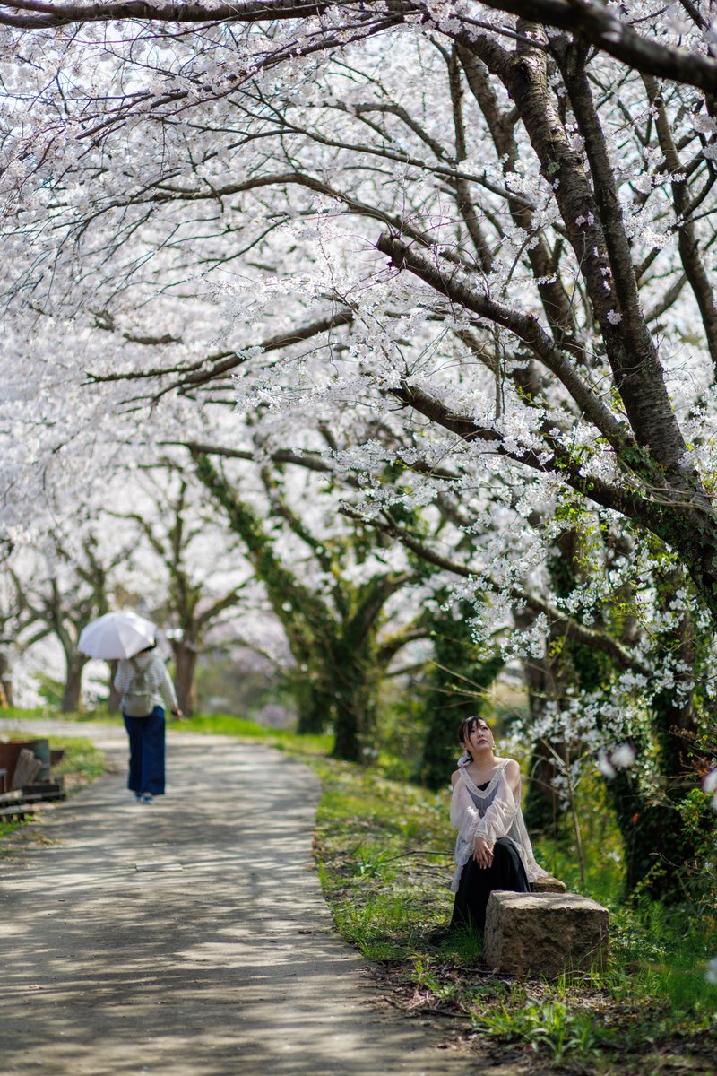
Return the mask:
<path id="1" fill-rule="evenodd" d="M 514 980 L 483 971 L 470 935 L 442 939 L 451 895 L 454 834 L 447 791 L 432 794 L 328 758 L 327 737 L 299 737 L 238 718 L 196 718 L 182 728 L 279 748 L 322 782 L 315 854 L 336 929 L 371 962 L 381 993 L 430 1016 L 493 1063 L 516 1072 L 601 1076 L 714 1073 L 717 987 L 705 980 L 717 952 L 714 897 L 672 911 L 620 903 L 616 837 L 585 796 L 584 891 L 611 909 L 612 959 L 603 974 Z M 582 882 L 570 838 L 536 845 L 540 862 L 573 890 Z M 477 1062 L 478 1059 L 476 1059 Z"/>

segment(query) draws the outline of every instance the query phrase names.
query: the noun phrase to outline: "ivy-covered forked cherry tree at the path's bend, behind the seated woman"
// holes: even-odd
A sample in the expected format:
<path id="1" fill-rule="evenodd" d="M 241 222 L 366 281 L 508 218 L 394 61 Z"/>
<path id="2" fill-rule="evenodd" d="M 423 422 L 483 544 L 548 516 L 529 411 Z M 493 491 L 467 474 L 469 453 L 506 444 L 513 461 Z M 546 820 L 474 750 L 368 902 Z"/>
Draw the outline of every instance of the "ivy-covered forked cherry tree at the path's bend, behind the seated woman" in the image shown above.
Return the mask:
<path id="1" fill-rule="evenodd" d="M 244 455 L 221 454 L 225 461 Z M 217 467 L 197 447 L 192 456 L 286 632 L 297 663 L 299 730 L 332 726 L 336 758 L 360 761 L 373 733 L 382 677 L 403 647 L 426 634 L 420 615 L 392 629 L 386 623 L 390 599 L 412 582 L 413 572 L 391 564 L 395 557 L 372 550 L 370 542 L 357 549 L 350 529 L 342 534 L 333 519 L 328 532 L 317 529 L 320 520 L 311 525 L 292 506 L 286 483 L 267 467 L 261 481 L 269 508 L 260 513 L 245 499 L 236 472 Z M 318 500 L 317 491 L 313 496 Z M 293 547 L 288 557 L 287 538 Z"/>

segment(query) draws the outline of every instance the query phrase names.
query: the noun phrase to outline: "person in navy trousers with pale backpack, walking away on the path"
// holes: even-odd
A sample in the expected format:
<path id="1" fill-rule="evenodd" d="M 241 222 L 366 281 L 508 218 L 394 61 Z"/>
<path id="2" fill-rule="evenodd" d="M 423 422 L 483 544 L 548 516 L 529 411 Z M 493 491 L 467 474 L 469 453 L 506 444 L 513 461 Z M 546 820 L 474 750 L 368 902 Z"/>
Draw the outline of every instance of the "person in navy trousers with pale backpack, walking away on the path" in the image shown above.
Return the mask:
<path id="1" fill-rule="evenodd" d="M 133 657 L 123 659 L 115 677 L 129 736 L 127 787 L 143 804 L 164 794 L 164 707 L 182 717 L 172 678 L 156 646 L 153 642 Z"/>

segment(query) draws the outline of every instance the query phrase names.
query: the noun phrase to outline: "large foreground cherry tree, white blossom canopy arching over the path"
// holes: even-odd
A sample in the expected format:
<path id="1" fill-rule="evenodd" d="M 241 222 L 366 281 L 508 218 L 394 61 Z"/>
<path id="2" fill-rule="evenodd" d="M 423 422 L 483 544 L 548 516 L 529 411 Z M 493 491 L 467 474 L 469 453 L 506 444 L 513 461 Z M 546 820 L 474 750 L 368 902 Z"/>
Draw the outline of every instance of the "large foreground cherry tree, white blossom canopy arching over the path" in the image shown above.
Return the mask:
<path id="1" fill-rule="evenodd" d="M 196 442 L 238 401 L 272 456 L 365 409 L 379 437 L 322 450 L 352 510 L 457 564 L 478 635 L 529 609 L 513 656 L 608 655 L 593 725 L 639 696 L 676 819 L 717 615 L 711 5 L 18 0 L 0 24 L 6 526 L 40 411 L 52 466 L 110 409 Z"/>

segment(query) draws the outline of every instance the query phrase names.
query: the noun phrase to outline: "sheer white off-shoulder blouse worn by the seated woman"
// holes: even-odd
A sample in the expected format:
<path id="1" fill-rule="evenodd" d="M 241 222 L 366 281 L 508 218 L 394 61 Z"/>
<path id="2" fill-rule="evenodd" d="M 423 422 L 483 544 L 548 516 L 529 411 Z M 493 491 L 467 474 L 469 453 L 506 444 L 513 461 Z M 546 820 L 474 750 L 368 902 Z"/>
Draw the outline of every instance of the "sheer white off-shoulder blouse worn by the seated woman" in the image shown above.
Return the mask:
<path id="1" fill-rule="evenodd" d="M 502 759 L 488 784 L 479 789 L 459 763 L 459 777 L 450 799 L 450 824 L 458 830 L 456 838 L 456 872 L 450 882 L 451 892 L 458 891 L 463 867 L 473 855 L 475 838 L 479 835 L 488 845 L 499 837 L 510 837 L 515 844 L 526 868 L 528 881 L 543 878 L 547 870 L 535 862 L 530 837 L 520 810 L 520 782 L 513 792 L 505 767 L 510 759 Z M 477 803 L 476 803 L 477 801 Z"/>

